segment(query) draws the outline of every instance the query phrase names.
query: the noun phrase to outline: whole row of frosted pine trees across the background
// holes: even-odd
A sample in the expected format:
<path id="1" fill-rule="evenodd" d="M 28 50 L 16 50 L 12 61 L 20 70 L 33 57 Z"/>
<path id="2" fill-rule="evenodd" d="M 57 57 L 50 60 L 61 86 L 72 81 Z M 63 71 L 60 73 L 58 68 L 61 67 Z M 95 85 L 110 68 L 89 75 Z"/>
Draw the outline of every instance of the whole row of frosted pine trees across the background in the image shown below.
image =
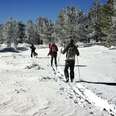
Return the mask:
<path id="1" fill-rule="evenodd" d="M 35 22 L 28 20 L 26 23 L 10 18 L 0 25 L 0 43 L 6 43 L 8 47 L 11 47 L 11 43 L 17 47 L 18 43 L 24 42 L 63 43 L 68 41 L 70 35 L 75 41 L 110 43 L 108 35 L 112 27 L 112 5 L 112 0 L 104 5 L 95 0 L 87 14 L 76 6 L 67 6 L 61 9 L 54 22 L 46 17 L 38 17 Z"/>

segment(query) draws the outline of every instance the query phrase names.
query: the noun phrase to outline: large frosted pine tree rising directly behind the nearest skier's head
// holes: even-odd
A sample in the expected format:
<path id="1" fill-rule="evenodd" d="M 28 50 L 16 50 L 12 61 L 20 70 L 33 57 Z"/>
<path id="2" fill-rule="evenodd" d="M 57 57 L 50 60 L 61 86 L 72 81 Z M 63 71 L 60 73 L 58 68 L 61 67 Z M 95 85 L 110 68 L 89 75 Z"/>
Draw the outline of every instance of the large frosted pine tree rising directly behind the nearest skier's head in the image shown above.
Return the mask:
<path id="1" fill-rule="evenodd" d="M 76 41 L 81 40 L 83 37 L 81 37 L 81 34 L 84 33 L 84 29 L 82 29 L 83 21 L 83 12 L 74 7 L 74 6 L 67 6 L 63 10 L 60 11 L 58 21 L 57 21 L 57 28 L 56 28 L 56 34 L 59 38 L 61 38 L 62 41 L 68 41 L 70 36 L 73 36 Z M 80 31 L 80 29 L 82 29 Z"/>

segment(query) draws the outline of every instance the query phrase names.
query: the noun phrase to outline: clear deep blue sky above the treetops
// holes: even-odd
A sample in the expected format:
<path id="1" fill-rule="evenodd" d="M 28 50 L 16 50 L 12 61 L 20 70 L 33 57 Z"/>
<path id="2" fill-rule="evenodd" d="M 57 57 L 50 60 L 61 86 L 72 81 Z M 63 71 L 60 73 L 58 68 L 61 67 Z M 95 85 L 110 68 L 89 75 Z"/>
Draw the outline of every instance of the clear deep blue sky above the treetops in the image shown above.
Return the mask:
<path id="1" fill-rule="evenodd" d="M 35 21 L 38 16 L 45 16 L 55 20 L 59 11 L 74 5 L 87 12 L 94 0 L 0 0 L 0 23 L 9 17 L 20 21 L 31 19 Z M 100 0 L 102 4 L 107 0 Z"/>

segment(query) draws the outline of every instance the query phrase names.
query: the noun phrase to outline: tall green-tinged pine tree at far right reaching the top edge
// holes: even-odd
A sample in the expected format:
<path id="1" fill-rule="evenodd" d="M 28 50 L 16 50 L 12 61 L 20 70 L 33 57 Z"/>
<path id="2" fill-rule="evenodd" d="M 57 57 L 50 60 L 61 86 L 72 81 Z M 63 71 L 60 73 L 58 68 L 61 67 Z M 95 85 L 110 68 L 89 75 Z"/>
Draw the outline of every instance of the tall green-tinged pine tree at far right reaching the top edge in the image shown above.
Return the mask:
<path id="1" fill-rule="evenodd" d="M 112 7 L 110 1 L 111 0 L 109 0 L 107 4 L 101 5 L 99 0 L 95 0 L 89 12 L 91 25 L 94 25 L 92 28 L 93 32 L 95 31 L 94 35 L 96 41 L 107 41 L 107 35 L 111 33 Z"/>

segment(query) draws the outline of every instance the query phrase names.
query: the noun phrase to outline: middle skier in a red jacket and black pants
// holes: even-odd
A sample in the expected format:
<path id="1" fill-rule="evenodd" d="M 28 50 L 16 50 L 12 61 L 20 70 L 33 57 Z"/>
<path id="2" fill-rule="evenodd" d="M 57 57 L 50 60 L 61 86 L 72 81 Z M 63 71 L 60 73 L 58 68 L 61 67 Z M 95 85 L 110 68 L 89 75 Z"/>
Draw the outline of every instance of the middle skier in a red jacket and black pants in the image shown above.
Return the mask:
<path id="1" fill-rule="evenodd" d="M 53 66 L 53 60 L 55 63 L 55 66 L 57 67 L 57 52 L 58 52 L 58 47 L 55 43 L 52 43 L 49 48 L 49 53 L 48 56 L 51 55 L 51 66 Z"/>

